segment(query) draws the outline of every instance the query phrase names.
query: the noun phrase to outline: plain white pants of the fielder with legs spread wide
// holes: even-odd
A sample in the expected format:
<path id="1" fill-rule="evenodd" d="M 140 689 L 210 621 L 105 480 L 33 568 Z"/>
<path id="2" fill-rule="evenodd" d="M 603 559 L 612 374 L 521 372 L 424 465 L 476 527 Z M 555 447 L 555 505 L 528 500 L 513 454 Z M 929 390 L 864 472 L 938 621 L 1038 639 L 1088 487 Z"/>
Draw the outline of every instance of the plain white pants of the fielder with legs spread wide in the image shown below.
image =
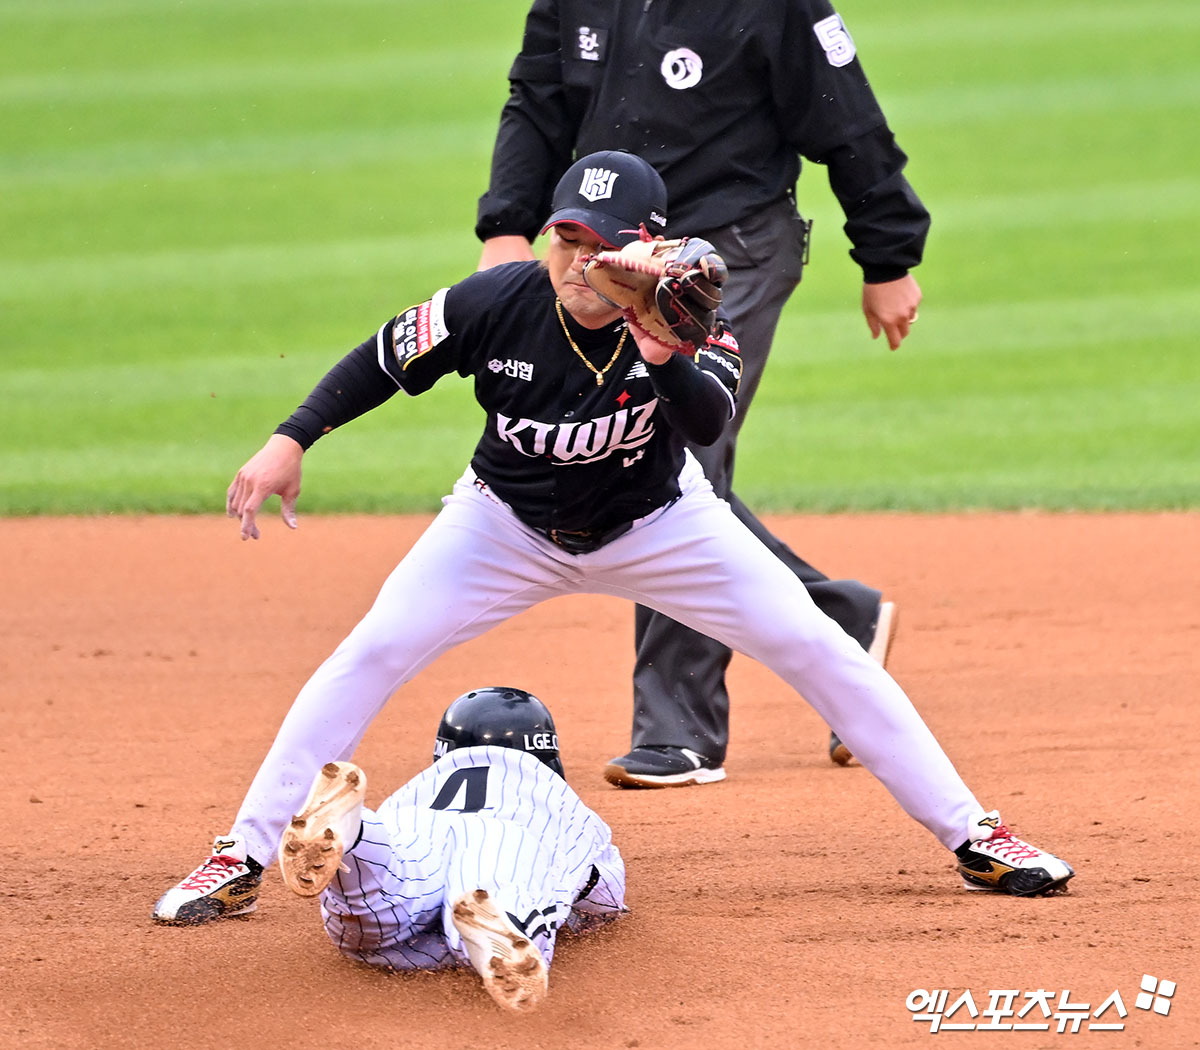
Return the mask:
<path id="1" fill-rule="evenodd" d="M 792 685 L 901 808 L 948 848 L 982 809 L 904 690 L 718 499 L 689 455 L 683 494 L 589 554 L 522 524 L 470 470 L 374 605 L 296 696 L 233 833 L 275 859 L 324 762 L 347 760 L 389 697 L 455 646 L 564 594 L 656 608 Z"/>

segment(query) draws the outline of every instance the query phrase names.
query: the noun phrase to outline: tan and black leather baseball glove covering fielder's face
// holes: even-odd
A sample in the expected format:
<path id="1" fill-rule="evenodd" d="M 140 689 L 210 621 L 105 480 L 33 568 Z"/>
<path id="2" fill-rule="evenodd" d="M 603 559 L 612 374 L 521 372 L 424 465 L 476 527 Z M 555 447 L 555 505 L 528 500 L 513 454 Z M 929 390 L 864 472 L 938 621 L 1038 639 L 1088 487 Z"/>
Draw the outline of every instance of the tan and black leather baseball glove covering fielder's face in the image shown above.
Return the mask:
<path id="1" fill-rule="evenodd" d="M 727 274 L 725 260 L 698 238 L 636 240 L 583 265 L 583 280 L 596 295 L 631 325 L 684 354 L 708 340 Z"/>

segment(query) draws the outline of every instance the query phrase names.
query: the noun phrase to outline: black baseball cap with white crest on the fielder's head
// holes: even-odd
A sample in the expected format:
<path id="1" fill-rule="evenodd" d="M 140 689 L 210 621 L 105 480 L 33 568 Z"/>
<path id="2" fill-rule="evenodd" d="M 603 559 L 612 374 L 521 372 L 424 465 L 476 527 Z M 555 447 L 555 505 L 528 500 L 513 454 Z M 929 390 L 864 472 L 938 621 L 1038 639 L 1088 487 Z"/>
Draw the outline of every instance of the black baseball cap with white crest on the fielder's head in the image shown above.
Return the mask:
<path id="1" fill-rule="evenodd" d="M 580 157 L 554 187 L 545 233 L 560 222 L 577 222 L 606 245 L 619 248 L 666 230 L 667 187 L 662 176 L 636 154 L 602 150 Z"/>

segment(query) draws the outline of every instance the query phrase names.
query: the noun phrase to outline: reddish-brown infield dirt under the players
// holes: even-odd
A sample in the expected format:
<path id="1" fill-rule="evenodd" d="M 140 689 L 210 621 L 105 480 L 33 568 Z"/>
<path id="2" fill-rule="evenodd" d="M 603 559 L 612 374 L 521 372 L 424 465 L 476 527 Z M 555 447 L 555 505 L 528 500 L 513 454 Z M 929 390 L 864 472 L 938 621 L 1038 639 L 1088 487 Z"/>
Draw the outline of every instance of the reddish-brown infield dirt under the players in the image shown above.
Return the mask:
<path id="1" fill-rule="evenodd" d="M 890 1048 L 931 1038 L 906 1007 L 916 989 L 971 991 L 980 1010 L 990 990 L 1018 1007 L 1049 990 L 1056 1010 L 1064 992 L 1094 1010 L 1120 991 L 1128 1012 L 938 1044 L 1200 1045 L 1195 514 L 768 518 L 899 604 L 889 670 L 980 800 L 1075 866 L 1066 896 L 964 893 L 946 851 L 864 769 L 833 766 L 817 716 L 740 656 L 725 782 L 607 786 L 628 746 L 632 611 L 572 598 L 443 656 L 356 756 L 377 804 L 428 762 L 460 692 L 520 685 L 551 704 L 632 912 L 564 936 L 540 1012 L 502 1015 L 469 972 L 346 961 L 274 870 L 246 919 L 154 926 L 427 521 L 301 515 L 292 534 L 264 517 L 250 544 L 218 517 L 0 522 L 0 1045 Z M 1176 982 L 1165 1015 L 1135 1004 L 1144 974 Z"/>

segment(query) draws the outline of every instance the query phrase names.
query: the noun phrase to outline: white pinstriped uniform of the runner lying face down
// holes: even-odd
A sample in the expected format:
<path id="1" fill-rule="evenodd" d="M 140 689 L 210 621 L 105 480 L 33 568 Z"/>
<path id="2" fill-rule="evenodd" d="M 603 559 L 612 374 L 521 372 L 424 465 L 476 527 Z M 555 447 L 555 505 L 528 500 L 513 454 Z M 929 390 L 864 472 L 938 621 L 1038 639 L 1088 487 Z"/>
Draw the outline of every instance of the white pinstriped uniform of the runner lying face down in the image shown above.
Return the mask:
<path id="1" fill-rule="evenodd" d="M 469 965 L 455 898 L 486 889 L 548 962 L 562 925 L 625 911 L 625 865 L 608 826 L 533 755 L 460 748 L 377 811 L 322 895 L 337 948 L 390 970 Z M 577 898 L 581 898 L 577 900 Z"/>

